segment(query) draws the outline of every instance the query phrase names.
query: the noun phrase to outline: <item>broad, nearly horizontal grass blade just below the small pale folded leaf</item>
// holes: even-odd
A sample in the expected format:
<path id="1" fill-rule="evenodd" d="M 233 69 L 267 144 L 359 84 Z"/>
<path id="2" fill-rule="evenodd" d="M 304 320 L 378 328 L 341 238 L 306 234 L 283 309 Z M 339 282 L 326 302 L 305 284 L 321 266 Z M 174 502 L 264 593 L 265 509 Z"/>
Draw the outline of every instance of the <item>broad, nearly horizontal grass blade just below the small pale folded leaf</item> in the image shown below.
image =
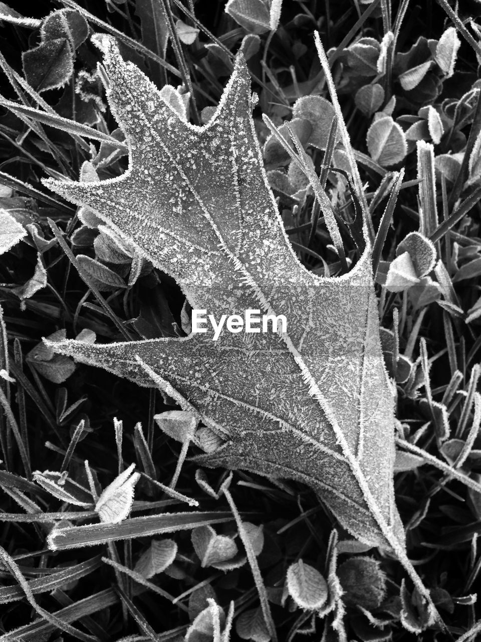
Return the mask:
<path id="1" fill-rule="evenodd" d="M 222 524 L 231 520 L 232 515 L 228 512 L 162 513 L 147 517 L 132 517 L 119 524 L 101 523 L 54 529 L 49 534 L 47 542 L 51 550 L 66 550 L 105 544 L 119 539 L 174 533 L 178 530 L 189 530 L 206 524 Z"/>

